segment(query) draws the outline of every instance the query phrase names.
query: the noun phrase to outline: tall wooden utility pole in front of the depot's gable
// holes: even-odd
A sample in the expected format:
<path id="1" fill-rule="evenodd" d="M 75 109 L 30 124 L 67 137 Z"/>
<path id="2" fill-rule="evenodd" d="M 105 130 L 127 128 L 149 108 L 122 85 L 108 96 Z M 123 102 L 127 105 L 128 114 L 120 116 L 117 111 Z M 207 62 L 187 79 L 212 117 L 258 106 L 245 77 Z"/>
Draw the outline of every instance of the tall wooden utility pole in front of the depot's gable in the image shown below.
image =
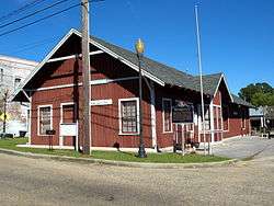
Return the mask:
<path id="1" fill-rule="evenodd" d="M 82 138 L 83 153 L 90 154 L 91 147 L 91 87 L 90 87 L 90 47 L 89 47 L 89 0 L 81 0 L 82 7 Z"/>

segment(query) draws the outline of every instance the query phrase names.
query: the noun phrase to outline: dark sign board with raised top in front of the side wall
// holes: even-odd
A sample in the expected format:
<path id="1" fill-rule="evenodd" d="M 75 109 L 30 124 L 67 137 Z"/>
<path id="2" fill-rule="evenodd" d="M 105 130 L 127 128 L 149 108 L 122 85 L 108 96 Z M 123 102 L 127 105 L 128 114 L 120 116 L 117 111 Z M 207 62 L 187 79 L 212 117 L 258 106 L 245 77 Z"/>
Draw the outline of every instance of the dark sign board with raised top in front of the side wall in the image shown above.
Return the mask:
<path id="1" fill-rule="evenodd" d="M 193 123 L 193 104 L 184 101 L 176 101 L 172 110 L 173 123 Z"/>

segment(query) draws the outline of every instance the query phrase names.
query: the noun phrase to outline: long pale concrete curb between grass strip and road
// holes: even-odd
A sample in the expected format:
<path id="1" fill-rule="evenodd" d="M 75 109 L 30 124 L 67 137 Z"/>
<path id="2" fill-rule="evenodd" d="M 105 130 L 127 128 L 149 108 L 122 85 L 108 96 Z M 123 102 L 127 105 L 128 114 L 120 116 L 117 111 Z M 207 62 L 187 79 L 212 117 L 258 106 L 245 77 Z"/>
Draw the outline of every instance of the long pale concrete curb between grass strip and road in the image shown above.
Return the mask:
<path id="1" fill-rule="evenodd" d="M 109 164 L 116 167 L 129 167 L 129 168 L 148 168 L 148 169 L 195 169 L 195 168 L 216 168 L 216 167 L 227 167 L 233 165 L 239 160 L 231 159 L 219 162 L 203 162 L 203 163 L 150 163 L 150 162 L 126 162 L 126 161 L 113 161 L 93 158 L 73 158 L 67 156 L 53 156 L 43 153 L 32 153 L 22 152 L 10 149 L 0 148 L 0 153 L 27 157 L 33 159 L 47 159 L 47 160 L 58 160 L 58 161 L 70 161 L 77 163 L 96 163 L 96 164 Z"/>

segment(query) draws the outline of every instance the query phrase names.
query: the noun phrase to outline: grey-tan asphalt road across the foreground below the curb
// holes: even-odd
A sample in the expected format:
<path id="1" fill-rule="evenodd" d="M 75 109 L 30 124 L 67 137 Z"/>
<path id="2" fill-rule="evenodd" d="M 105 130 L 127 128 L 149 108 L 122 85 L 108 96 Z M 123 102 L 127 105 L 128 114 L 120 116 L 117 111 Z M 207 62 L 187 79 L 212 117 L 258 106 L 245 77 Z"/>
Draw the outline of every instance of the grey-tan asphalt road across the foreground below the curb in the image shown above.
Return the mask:
<path id="1" fill-rule="evenodd" d="M 274 157 L 163 170 L 0 154 L 0 205 L 274 205 Z"/>

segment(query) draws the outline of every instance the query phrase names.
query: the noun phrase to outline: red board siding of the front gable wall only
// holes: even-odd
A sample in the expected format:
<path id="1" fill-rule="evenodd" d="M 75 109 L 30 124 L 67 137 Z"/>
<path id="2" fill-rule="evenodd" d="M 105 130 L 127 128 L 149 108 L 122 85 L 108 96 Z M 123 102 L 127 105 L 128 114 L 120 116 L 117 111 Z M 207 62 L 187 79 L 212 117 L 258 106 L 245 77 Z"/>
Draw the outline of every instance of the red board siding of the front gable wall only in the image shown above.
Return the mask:
<path id="1" fill-rule="evenodd" d="M 100 60 L 103 58 L 104 61 Z M 73 83 L 77 79 L 81 79 L 81 75 L 76 78 L 73 59 L 66 60 L 57 68 L 52 69 L 52 72 L 45 75 L 45 80 L 39 82 L 41 87 L 53 87 L 67 83 Z M 137 72 L 125 67 L 122 62 L 107 58 L 104 55 L 92 61 L 92 80 L 94 79 L 116 79 L 123 77 L 137 77 Z M 72 68 L 71 68 L 72 67 Z M 77 66 L 78 67 L 78 66 Z M 79 67 L 76 69 L 77 71 Z M 67 73 L 67 75 L 64 75 Z M 91 127 L 92 127 L 92 146 L 94 147 L 112 147 L 114 144 L 119 144 L 121 147 L 138 147 L 138 135 L 118 135 L 118 99 L 138 96 L 138 81 L 119 81 L 107 84 L 92 85 L 92 100 L 111 99 L 112 105 L 91 106 Z M 43 104 L 53 105 L 53 127 L 56 130 L 54 136 L 54 145 L 59 144 L 59 123 L 60 123 L 60 104 L 66 102 L 76 102 L 78 104 L 77 113 L 81 118 L 82 101 L 81 87 L 36 91 L 32 95 L 32 144 L 46 145 L 47 137 L 37 135 L 37 106 Z M 151 147 L 151 127 L 150 127 L 150 104 L 149 92 L 144 83 L 144 139 L 146 147 Z M 81 134 L 81 127 L 80 127 Z M 82 141 L 82 140 L 81 140 Z M 72 138 L 66 137 L 65 145 L 72 145 Z"/>

